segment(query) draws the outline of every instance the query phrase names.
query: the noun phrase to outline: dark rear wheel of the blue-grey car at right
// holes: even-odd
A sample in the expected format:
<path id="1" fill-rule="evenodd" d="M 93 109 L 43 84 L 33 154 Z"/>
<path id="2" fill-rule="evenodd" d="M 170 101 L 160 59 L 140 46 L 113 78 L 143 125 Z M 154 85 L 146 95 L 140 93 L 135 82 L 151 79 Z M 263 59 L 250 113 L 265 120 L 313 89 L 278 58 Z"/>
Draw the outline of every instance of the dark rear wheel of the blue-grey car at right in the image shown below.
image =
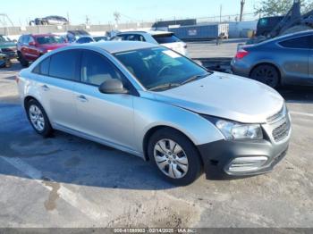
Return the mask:
<path id="1" fill-rule="evenodd" d="M 280 73 L 275 66 L 270 64 L 258 65 L 250 73 L 250 79 L 258 80 L 271 88 L 278 88 Z"/>

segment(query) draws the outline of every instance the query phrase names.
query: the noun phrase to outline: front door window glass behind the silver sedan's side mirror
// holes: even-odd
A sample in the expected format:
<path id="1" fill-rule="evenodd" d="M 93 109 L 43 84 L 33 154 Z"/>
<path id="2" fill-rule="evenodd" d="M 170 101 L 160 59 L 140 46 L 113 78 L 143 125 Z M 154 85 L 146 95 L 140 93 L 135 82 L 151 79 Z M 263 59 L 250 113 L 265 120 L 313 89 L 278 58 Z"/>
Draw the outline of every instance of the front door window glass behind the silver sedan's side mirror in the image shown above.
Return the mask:
<path id="1" fill-rule="evenodd" d="M 107 79 L 123 80 L 123 75 L 103 55 L 84 51 L 81 58 L 80 81 L 100 86 Z"/>

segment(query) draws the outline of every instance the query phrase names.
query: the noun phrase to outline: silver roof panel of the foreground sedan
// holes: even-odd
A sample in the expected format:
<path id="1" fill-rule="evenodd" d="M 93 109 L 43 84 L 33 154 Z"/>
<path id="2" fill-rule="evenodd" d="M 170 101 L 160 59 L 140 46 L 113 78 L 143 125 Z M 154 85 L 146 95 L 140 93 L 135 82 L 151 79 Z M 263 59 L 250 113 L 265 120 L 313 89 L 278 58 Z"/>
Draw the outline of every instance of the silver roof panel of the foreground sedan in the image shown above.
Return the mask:
<path id="1" fill-rule="evenodd" d="M 83 45 L 86 47 L 92 46 L 106 50 L 107 52 L 114 54 L 119 52 L 139 50 L 145 48 L 157 47 L 154 44 L 139 41 L 106 41 L 106 42 L 96 42 Z"/>

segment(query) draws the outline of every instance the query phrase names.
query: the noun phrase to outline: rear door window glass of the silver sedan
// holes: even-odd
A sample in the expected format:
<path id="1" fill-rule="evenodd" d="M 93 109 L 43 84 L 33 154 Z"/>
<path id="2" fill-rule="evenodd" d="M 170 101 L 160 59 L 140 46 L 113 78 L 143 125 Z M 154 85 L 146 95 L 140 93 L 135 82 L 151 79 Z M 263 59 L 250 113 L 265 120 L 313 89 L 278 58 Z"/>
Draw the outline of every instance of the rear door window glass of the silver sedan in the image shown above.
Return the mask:
<path id="1" fill-rule="evenodd" d="M 77 80 L 79 50 L 66 50 L 51 56 L 49 76 Z"/>

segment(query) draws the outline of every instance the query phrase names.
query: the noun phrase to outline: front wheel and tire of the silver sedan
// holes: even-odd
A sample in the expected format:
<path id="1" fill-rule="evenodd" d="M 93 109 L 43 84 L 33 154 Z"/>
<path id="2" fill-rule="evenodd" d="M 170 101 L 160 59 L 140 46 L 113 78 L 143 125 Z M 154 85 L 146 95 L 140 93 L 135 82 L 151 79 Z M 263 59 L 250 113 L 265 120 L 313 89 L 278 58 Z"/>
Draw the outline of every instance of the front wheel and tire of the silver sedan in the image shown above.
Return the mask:
<path id="1" fill-rule="evenodd" d="M 174 185 L 187 186 L 202 173 L 197 148 L 177 130 L 157 130 L 148 141 L 148 156 L 158 173 Z"/>

